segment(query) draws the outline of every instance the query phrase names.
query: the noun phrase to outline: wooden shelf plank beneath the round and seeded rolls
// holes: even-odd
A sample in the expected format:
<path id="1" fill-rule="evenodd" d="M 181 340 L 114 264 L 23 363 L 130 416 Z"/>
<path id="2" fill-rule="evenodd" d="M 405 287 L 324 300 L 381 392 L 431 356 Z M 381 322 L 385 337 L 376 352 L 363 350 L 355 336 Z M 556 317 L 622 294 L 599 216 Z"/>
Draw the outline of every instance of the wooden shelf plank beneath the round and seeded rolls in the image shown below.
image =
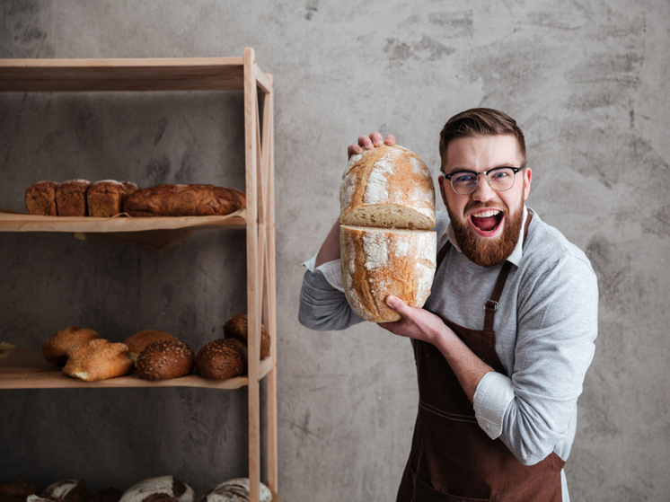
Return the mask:
<path id="1" fill-rule="evenodd" d="M 1 353 L 0 389 L 119 389 L 124 387 L 202 387 L 209 389 L 239 389 L 249 384 L 247 376 L 237 376 L 227 380 L 207 380 L 196 374 L 151 382 L 136 374 L 111 378 L 101 382 L 84 382 L 63 374 L 57 366 L 50 365 L 39 350 L 14 348 Z M 259 380 L 272 370 L 272 360 L 266 357 L 260 361 Z"/>

